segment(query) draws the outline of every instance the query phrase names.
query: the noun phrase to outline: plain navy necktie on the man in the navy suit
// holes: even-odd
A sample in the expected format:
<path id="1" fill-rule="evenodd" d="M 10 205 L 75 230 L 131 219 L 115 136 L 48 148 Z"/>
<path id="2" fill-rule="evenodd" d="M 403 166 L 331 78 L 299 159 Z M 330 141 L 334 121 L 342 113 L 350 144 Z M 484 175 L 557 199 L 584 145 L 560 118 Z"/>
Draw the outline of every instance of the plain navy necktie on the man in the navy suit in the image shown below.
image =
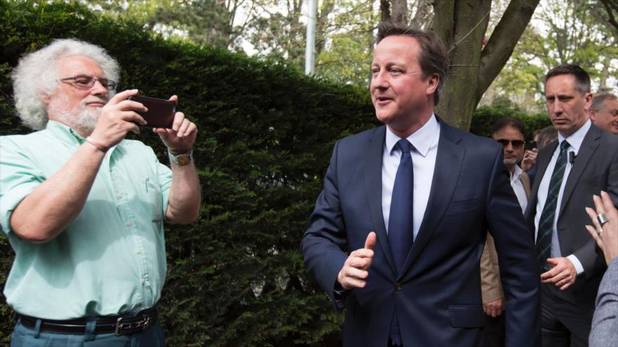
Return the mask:
<path id="1" fill-rule="evenodd" d="M 397 272 L 401 272 L 404 261 L 412 247 L 412 238 L 414 237 L 414 231 L 412 230 L 414 170 L 412 167 L 412 156 L 410 155 L 412 144 L 406 139 L 401 139 L 397 141 L 397 146 L 401 149 L 401 158 L 397 174 L 395 175 L 393 195 L 390 198 L 388 243 L 390 244 L 390 250 L 393 252 Z M 393 313 L 388 335 L 395 344 L 403 345 L 396 312 Z"/>

